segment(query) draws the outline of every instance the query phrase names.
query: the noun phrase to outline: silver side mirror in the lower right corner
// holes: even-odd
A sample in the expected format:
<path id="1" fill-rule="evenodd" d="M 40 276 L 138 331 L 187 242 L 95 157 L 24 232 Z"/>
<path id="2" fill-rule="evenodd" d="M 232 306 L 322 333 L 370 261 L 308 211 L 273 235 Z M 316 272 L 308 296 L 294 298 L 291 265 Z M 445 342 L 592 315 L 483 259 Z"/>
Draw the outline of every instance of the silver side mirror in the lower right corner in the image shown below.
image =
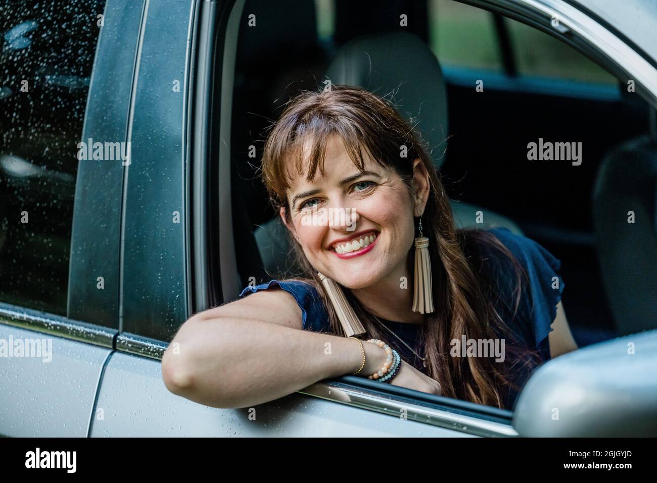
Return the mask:
<path id="1" fill-rule="evenodd" d="M 514 408 L 520 436 L 657 436 L 657 330 L 540 366 Z"/>

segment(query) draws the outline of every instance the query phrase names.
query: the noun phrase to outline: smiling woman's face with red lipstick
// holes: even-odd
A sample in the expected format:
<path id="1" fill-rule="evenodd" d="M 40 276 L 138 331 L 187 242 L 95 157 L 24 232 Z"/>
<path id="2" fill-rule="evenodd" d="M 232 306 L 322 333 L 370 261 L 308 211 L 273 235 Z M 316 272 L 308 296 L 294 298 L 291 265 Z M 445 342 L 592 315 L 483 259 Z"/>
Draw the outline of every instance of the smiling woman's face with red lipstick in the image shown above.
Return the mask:
<path id="1" fill-rule="evenodd" d="M 423 168 L 419 159 L 415 165 Z M 325 175 L 318 169 L 313 182 L 296 177 L 287 192 L 292 219 L 288 228 L 308 261 L 351 289 L 407 275 L 413 217 L 422 213 L 424 202 L 416 203 L 399 176 L 369 156 L 361 173 L 337 136 L 327 144 L 324 167 Z M 281 217 L 285 222 L 284 209 Z"/>

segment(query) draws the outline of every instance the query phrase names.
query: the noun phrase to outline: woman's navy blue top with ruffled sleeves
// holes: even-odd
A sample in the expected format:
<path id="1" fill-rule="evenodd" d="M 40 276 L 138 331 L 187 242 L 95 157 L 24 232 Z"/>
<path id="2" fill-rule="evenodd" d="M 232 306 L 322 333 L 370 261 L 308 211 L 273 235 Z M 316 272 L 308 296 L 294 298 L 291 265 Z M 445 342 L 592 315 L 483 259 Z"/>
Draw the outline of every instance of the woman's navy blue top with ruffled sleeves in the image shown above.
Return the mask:
<path id="1" fill-rule="evenodd" d="M 498 250 L 483 245 L 478 245 L 476 251 L 472 251 L 472 247 L 466 246 L 464 248 L 465 255 L 469 259 L 474 255 L 476 257 L 474 266 L 480 268 L 479 273 L 486 275 L 491 283 L 496 285 L 496 290 L 500 295 L 497 300 L 493 301 L 493 305 L 509 329 L 516 335 L 518 341 L 524 344 L 524 347 L 537 350 L 543 361 L 549 360 L 548 333 L 552 331 L 550 324 L 555 320 L 556 305 L 560 301 L 564 289 L 564 282 L 557 273 L 561 263 L 538 243 L 525 236 L 514 234 L 508 228 L 492 228 L 488 231 L 494 234 L 516 257 L 525 268 L 529 278 L 529 290 L 526 285 L 523 285 L 520 305 L 515 317 L 512 317 L 515 308 L 513 289 L 517 279 L 511 261 Z M 307 282 L 270 280 L 266 284 L 245 287 L 240 293 L 240 297 L 258 290 L 268 289 L 272 285 L 281 287 L 294 296 L 302 311 L 304 330 L 331 332 L 328 312 L 315 287 Z M 381 320 L 381 322 L 420 356 L 424 356 L 419 341 L 422 327 L 420 324 L 390 320 Z M 391 335 L 386 342 L 394 347 L 406 362 L 426 374 L 426 369 L 422 367 L 422 361 L 407 347 L 399 343 L 395 337 Z M 509 342 L 505 341 L 505 343 L 508 347 Z M 508 353 L 506 350 L 505 352 Z M 514 382 L 520 388 L 530 375 L 530 369 L 514 369 L 512 373 Z M 503 394 L 505 408 L 512 409 L 517 396 L 518 391 L 511 389 Z"/>

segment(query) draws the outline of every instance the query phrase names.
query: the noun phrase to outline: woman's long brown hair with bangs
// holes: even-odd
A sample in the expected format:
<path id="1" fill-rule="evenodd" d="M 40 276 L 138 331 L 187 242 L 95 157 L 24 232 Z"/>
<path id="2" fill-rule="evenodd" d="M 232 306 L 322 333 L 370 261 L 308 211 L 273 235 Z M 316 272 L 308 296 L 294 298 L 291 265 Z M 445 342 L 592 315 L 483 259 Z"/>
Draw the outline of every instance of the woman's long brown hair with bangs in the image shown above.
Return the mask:
<path id="1" fill-rule="evenodd" d="M 452 217 L 449 198 L 442 180 L 434 167 L 428 150 L 420 142 L 420 135 L 401 117 L 392 102 L 387 102 L 360 87 L 332 85 L 330 89 L 302 91 L 288 101 L 279 120 L 271 125 L 265 142 L 261 175 L 271 203 L 277 211 L 285 208 L 285 216 L 291 222 L 286 190 L 294 176 L 293 167 L 302 175 L 303 143 L 308 137 L 313 140 L 309 155 L 307 180 L 315 177 L 317 169 L 324 174 L 324 158 L 328 138 L 338 135 L 353 164 L 365 170 L 363 148 L 377 163 L 394 169 L 407 187 L 412 186 L 413 160 L 422 161 L 430 179 L 430 194 L 422 215 L 423 232 L 430 240 L 429 250 L 434 279 L 434 306 L 436 311 L 427 314 L 422 324 L 422 341 L 428 375 L 440 382 L 442 395 L 468 400 L 488 406 L 503 407 L 501 389 L 518 389 L 510 378 L 510 372 L 521 366 L 538 364 L 537 352 L 517 343 L 518 339 L 495 310 L 493 300 L 499 297 L 494 280 L 482 276 L 476 265 L 464 256 L 467 246 L 476 242 L 487 243 L 501 251 L 512 261 L 516 272 L 515 303 L 516 316 L 521 300 L 522 266 L 509 249 L 486 230 L 457 230 Z M 400 156 L 405 146 L 407 156 Z M 344 335 L 336 313 L 329 303 L 327 294 L 317 277 L 317 270 L 307 261 L 302 248 L 290 235 L 290 243 L 296 253 L 296 264 L 300 266 L 299 280 L 313 284 L 327 308 L 332 332 Z M 526 280 L 526 279 L 525 279 Z M 378 329 L 378 322 L 350 289 L 342 289 L 367 331 L 368 337 L 388 340 L 389 334 Z M 450 341 L 461 336 L 467 339 L 497 339 L 493 328 L 501 330 L 507 352 L 512 357 L 505 364 L 497 364 L 493 358 L 450 356 Z M 388 340 L 392 345 L 392 341 Z"/>

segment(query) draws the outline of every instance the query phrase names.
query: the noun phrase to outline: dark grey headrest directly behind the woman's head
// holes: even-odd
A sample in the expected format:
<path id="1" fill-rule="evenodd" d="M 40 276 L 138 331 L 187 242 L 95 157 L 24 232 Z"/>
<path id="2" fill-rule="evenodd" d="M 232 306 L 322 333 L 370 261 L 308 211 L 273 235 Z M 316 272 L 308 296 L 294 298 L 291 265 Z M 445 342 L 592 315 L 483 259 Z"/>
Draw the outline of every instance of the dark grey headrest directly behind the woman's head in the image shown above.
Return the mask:
<path id="1" fill-rule="evenodd" d="M 422 133 L 440 169 L 447 146 L 445 80 L 438 59 L 419 37 L 405 31 L 355 37 L 340 48 L 325 77 L 392 100 Z"/>

